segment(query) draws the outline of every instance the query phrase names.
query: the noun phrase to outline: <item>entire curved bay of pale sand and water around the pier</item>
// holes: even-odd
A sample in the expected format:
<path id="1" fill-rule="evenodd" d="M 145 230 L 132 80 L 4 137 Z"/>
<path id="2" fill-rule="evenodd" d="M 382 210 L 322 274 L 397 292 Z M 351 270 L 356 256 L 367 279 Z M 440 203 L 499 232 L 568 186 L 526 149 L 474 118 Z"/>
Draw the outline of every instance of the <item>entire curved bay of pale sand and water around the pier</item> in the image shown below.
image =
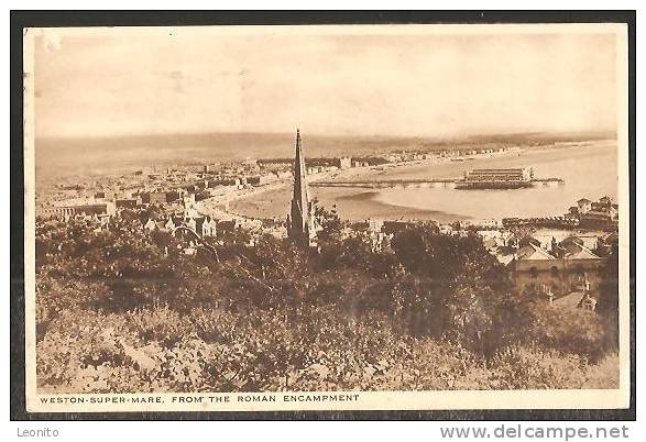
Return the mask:
<path id="1" fill-rule="evenodd" d="M 455 178 L 478 167 L 534 167 L 536 176 L 558 173 L 566 184 L 558 188 L 524 190 L 455 190 L 418 188 L 309 187 L 309 196 L 327 208 L 336 207 L 343 219 L 420 219 L 451 222 L 508 216 L 554 216 L 563 213 L 582 197 L 599 198 L 616 191 L 616 145 L 598 142 L 587 146 L 510 151 L 475 155 L 472 159 L 434 158 L 397 166 L 361 167 L 309 176 L 315 180 L 370 180 L 398 178 Z M 218 202 L 228 203 L 229 216 L 283 220 L 291 200 L 291 180 L 244 189 Z M 546 206 L 543 202 L 550 201 Z M 511 208 L 514 213 L 500 211 Z"/>

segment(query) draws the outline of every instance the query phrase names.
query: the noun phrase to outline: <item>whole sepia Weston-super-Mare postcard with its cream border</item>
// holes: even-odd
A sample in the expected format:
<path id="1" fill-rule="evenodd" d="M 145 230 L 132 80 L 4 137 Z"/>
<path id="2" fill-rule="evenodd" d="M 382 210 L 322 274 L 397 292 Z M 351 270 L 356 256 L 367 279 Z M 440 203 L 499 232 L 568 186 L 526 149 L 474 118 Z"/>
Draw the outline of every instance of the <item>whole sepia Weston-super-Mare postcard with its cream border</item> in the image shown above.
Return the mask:
<path id="1" fill-rule="evenodd" d="M 627 26 L 23 32 L 30 411 L 627 408 Z"/>

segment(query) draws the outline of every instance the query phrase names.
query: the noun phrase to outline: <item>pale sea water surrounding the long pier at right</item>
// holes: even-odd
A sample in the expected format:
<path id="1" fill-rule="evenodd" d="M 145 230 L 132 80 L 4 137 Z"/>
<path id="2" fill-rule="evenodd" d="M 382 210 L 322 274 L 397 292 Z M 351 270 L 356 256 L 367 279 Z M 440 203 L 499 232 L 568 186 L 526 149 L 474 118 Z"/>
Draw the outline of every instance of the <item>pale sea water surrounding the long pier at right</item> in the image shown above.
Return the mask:
<path id="1" fill-rule="evenodd" d="M 380 190 L 371 199 L 387 206 L 441 212 L 445 219 L 501 219 L 562 214 L 580 198 L 596 200 L 609 196 L 616 201 L 617 197 L 615 143 L 463 162 L 460 165 L 449 165 L 442 170 L 442 175 L 448 174 L 447 169 L 455 174 L 474 167 L 532 167 L 535 177 L 562 178 L 563 184 L 501 190 L 393 188 Z M 434 172 L 427 170 L 431 176 Z"/>

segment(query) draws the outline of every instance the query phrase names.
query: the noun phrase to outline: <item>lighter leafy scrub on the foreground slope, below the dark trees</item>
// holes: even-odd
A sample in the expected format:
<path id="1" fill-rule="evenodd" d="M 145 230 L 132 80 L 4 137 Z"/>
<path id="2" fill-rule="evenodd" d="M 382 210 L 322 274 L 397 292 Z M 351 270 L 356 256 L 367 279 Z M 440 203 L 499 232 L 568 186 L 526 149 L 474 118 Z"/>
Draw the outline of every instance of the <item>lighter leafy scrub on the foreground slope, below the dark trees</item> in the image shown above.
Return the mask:
<path id="1" fill-rule="evenodd" d="M 37 369 L 39 385 L 56 391 L 616 387 L 610 360 L 589 365 L 529 346 L 488 361 L 398 334 L 380 314 L 357 321 L 325 307 L 243 316 L 195 309 L 184 320 L 154 310 L 67 314 L 39 343 Z"/>

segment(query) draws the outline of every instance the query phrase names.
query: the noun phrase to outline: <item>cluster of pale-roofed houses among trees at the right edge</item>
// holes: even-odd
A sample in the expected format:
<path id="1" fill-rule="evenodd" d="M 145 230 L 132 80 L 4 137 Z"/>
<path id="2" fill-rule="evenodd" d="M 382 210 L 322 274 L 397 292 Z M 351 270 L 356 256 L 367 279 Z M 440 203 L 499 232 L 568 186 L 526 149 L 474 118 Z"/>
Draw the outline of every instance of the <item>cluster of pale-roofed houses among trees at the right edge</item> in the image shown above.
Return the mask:
<path id="1" fill-rule="evenodd" d="M 518 291 L 533 288 L 550 300 L 571 298 L 576 306 L 591 308 L 605 256 L 618 239 L 617 213 L 618 206 L 609 197 L 596 202 L 582 198 L 565 217 L 504 219 L 501 232 L 538 229 L 514 243 L 505 244 L 495 234 L 483 236 L 483 242 L 510 268 Z"/>

